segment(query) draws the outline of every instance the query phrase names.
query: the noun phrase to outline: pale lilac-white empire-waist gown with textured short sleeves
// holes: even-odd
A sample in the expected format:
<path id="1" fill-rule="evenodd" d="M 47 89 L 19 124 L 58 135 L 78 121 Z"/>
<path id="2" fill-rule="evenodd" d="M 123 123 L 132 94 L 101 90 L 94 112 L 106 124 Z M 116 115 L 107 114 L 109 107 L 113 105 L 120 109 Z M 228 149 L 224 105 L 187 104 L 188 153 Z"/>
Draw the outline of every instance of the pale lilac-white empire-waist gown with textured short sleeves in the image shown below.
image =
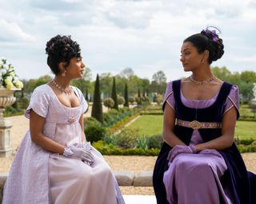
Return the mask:
<path id="1" fill-rule="evenodd" d="M 31 109 L 44 117 L 44 135 L 65 146 L 82 142 L 79 118 L 88 108 L 82 92 L 73 89 L 80 100 L 78 107 L 65 107 L 52 88 L 43 84 L 34 90 L 26 109 L 27 118 Z M 46 151 L 31 141 L 27 131 L 6 180 L 2 203 L 124 203 L 109 165 L 94 147 L 92 154 L 94 163 L 89 166 Z"/>

